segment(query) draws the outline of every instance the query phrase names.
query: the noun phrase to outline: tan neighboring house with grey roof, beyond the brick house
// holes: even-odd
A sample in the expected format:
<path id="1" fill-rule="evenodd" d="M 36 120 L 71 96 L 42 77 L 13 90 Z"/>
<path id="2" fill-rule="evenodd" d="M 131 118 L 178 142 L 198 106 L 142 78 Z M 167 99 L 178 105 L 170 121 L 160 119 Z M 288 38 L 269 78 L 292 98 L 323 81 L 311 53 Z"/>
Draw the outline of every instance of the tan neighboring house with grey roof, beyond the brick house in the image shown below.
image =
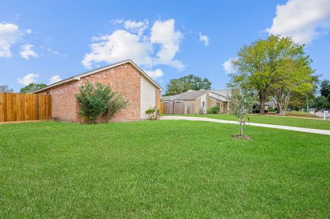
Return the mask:
<path id="1" fill-rule="evenodd" d="M 173 102 L 175 99 L 175 103 Z M 212 106 L 219 107 L 219 113 L 228 113 L 230 92 L 223 90 L 186 91 L 177 95 L 162 97 L 164 112 L 171 114 L 205 114 Z"/>

